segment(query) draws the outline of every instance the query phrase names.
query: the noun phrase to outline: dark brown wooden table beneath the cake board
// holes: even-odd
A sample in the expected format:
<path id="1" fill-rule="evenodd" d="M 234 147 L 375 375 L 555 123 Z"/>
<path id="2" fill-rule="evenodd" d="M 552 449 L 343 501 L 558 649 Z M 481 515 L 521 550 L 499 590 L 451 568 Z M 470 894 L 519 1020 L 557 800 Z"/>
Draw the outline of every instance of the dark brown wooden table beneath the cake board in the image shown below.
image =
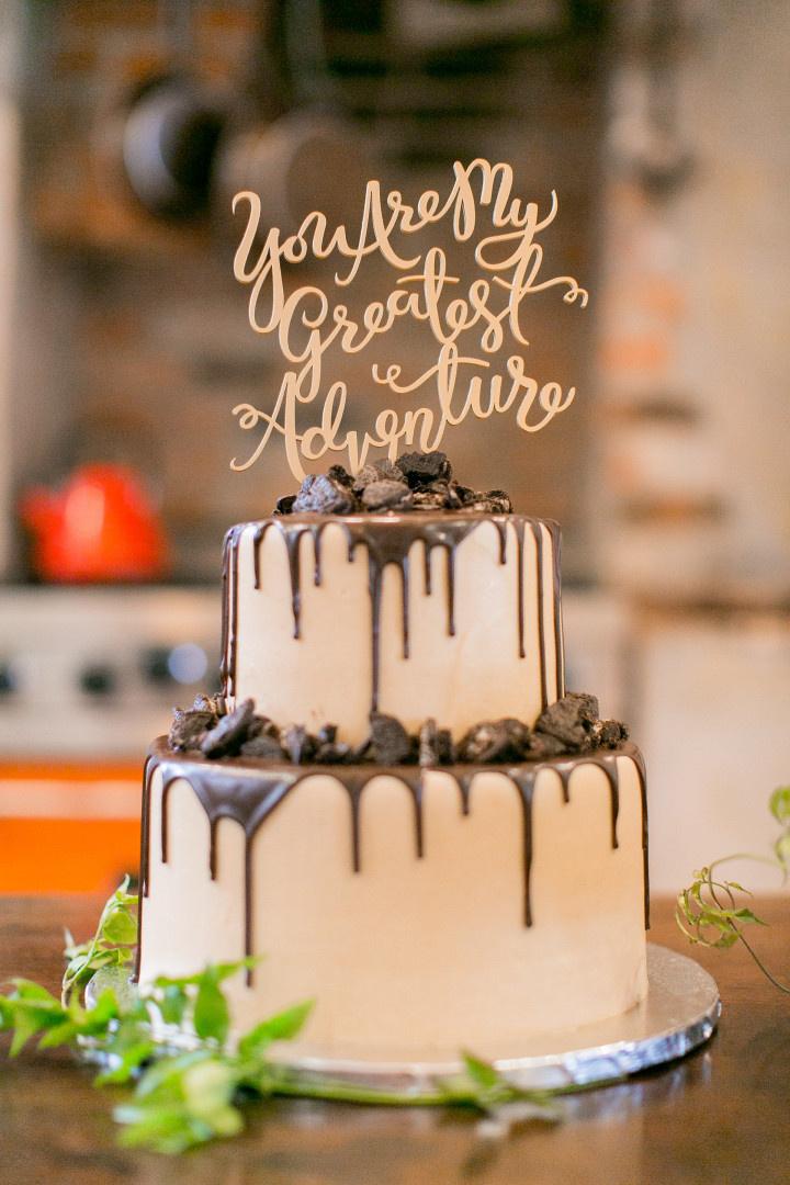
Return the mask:
<path id="1" fill-rule="evenodd" d="M 59 976 L 63 924 L 84 936 L 95 898 L 1 898 L 0 979 Z M 790 968 L 790 899 L 759 902 L 771 921 L 760 949 Z M 688 952 L 668 902 L 654 904 L 653 941 Z M 179 1159 L 126 1152 L 114 1139 L 110 1091 L 68 1053 L 0 1061 L 0 1181 L 98 1185 L 770 1185 L 790 1180 L 790 999 L 745 953 L 698 950 L 725 1012 L 702 1050 L 627 1084 L 576 1096 L 558 1127 L 481 1141 L 464 1113 L 274 1101 L 249 1110 L 235 1140 Z M 5 1043 L 5 1037 L 0 1038 Z"/>

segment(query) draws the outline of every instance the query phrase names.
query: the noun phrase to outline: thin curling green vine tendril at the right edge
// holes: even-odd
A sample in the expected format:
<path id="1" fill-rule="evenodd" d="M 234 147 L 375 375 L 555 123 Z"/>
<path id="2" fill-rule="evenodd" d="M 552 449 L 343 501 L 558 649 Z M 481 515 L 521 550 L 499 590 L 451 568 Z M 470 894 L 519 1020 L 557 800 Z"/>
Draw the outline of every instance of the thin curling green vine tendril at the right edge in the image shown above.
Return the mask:
<path id="1" fill-rule="evenodd" d="M 737 880 L 719 880 L 714 875 L 720 865 L 730 860 L 749 859 L 778 869 L 783 883 L 786 880 L 790 875 L 790 786 L 781 786 L 773 792 L 769 809 L 782 827 L 782 834 L 773 845 L 773 856 L 737 852 L 694 872 L 692 884 L 677 895 L 675 921 L 689 942 L 699 946 L 727 950 L 740 942 L 766 979 L 790 995 L 790 982 L 782 981 L 769 971 L 744 934 L 746 925 L 766 925 L 749 905 L 738 904 L 738 895 L 751 896 L 749 889 Z"/>

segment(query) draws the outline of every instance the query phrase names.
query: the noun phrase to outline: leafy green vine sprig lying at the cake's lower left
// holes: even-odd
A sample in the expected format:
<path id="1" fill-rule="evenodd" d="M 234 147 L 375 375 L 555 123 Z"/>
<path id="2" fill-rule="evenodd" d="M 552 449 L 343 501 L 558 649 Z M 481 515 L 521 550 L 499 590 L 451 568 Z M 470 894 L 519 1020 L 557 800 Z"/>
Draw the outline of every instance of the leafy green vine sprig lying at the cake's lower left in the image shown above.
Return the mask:
<path id="1" fill-rule="evenodd" d="M 546 1091 L 522 1090 L 489 1062 L 463 1053 L 463 1072 L 437 1080 L 435 1093 L 410 1095 L 346 1082 L 311 1081 L 269 1057 L 275 1042 L 291 1040 L 313 1007 L 296 1004 L 231 1040 L 231 1016 L 223 984 L 257 960 L 213 963 L 193 975 L 160 976 L 130 989 L 128 975 L 137 941 L 137 897 L 129 878 L 109 898 L 89 942 L 66 931 L 66 968 L 60 999 L 40 984 L 13 979 L 0 993 L 0 1031 L 13 1033 L 15 1057 L 33 1037 L 39 1049 L 71 1045 L 104 1068 L 96 1084 L 131 1087 L 114 1108 L 127 1147 L 179 1153 L 238 1134 L 243 1108 L 255 1098 L 291 1095 L 384 1104 L 455 1104 L 484 1119 L 486 1136 L 507 1134 L 531 1120 L 561 1114 Z M 91 982 L 94 981 L 94 982 Z M 94 1001 L 83 1004 L 91 984 Z M 172 1044 L 155 1038 L 167 1026 Z M 186 1049 L 185 1049 L 186 1046 Z"/>

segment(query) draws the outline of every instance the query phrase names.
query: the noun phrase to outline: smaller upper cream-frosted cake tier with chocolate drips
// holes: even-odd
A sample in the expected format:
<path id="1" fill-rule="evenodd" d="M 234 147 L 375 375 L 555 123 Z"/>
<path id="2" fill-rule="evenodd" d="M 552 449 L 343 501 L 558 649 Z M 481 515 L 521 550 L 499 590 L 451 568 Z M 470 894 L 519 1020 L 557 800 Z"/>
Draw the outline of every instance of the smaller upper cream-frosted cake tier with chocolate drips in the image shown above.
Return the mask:
<path id="1" fill-rule="evenodd" d="M 519 514 L 289 514 L 232 527 L 223 693 L 358 744 L 370 713 L 455 738 L 565 693 L 559 530 Z"/>

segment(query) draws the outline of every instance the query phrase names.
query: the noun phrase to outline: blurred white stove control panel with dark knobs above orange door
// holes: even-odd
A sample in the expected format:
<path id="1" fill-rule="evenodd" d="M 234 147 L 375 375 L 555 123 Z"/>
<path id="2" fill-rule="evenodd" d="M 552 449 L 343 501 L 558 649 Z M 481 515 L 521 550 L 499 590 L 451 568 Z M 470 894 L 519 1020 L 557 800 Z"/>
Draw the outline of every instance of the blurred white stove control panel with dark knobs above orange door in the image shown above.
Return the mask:
<path id="1" fill-rule="evenodd" d="M 0 590 L 0 756 L 141 760 L 217 686 L 218 623 L 217 589 Z"/>

